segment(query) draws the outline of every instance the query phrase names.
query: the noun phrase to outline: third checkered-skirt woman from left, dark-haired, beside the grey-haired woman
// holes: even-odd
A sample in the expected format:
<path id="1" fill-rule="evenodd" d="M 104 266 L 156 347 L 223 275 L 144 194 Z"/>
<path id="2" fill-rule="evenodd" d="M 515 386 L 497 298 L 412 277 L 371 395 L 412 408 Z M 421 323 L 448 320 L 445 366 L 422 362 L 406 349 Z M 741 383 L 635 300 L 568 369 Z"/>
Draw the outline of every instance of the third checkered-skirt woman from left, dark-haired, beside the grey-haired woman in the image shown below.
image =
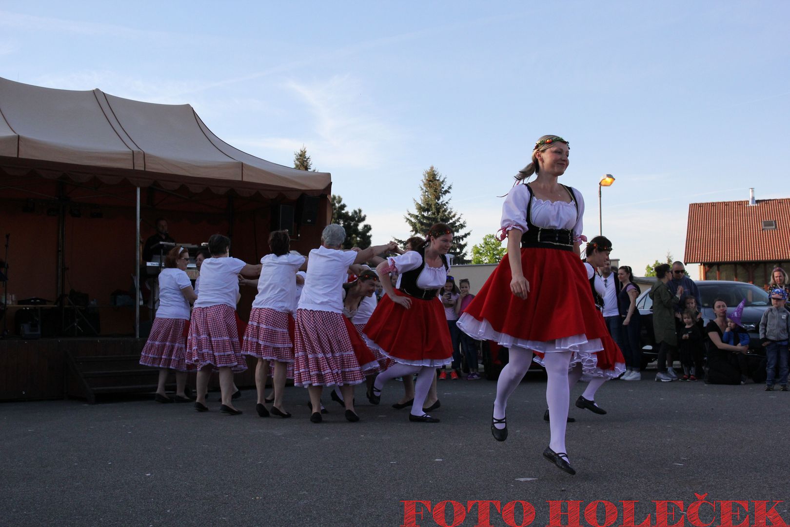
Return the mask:
<path id="1" fill-rule="evenodd" d="M 280 417 L 291 416 L 283 406 L 283 393 L 288 366 L 294 362 L 292 334 L 296 311 L 296 272 L 306 258 L 296 252 L 288 252 L 290 244 L 288 231 L 269 234 L 272 252 L 261 258 L 261 277 L 252 280 L 258 287 L 258 295 L 252 303 L 242 353 L 258 358 L 258 366 L 255 367 L 258 404 L 255 410 L 261 417 L 269 416 L 264 406 L 269 361 L 274 362 L 272 413 Z"/>

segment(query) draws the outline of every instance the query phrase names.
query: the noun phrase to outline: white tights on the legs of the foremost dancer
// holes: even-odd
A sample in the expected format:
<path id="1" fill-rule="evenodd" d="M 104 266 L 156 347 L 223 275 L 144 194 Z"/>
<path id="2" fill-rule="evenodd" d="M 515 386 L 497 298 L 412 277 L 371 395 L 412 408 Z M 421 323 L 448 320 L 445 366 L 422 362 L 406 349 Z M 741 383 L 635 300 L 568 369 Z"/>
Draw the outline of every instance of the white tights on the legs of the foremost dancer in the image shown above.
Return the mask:
<path id="1" fill-rule="evenodd" d="M 546 402 L 551 416 L 549 427 L 551 440 L 549 447 L 555 452 L 565 452 L 565 427 L 568 419 L 570 388 L 568 385 L 568 367 L 572 352 L 551 352 L 544 356 L 544 365 L 548 374 L 546 385 Z M 510 348 L 510 361 L 502 368 L 496 385 L 494 401 L 494 417 L 502 419 L 506 415 L 507 399 L 516 390 L 518 383 L 526 375 L 532 362 L 532 350 L 527 348 Z M 504 424 L 495 425 L 504 428 Z"/>

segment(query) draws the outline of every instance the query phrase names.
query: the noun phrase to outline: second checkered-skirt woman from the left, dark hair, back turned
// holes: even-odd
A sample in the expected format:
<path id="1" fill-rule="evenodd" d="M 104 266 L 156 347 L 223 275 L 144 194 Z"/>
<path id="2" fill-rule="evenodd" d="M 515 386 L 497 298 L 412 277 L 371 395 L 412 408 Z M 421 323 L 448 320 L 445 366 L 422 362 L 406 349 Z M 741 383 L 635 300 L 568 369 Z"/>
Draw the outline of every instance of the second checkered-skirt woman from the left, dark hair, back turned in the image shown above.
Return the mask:
<path id="1" fill-rule="evenodd" d="M 200 295 L 194 303 L 190 334 L 186 339 L 186 362 L 198 368 L 198 400 L 195 409 L 206 412 L 205 393 L 214 370 L 220 372 L 220 412 L 231 416 L 242 413 L 234 408 L 234 372 L 246 370 L 246 359 L 241 353 L 236 318 L 236 299 L 239 295 L 239 274 L 254 278 L 261 273 L 261 265 L 250 265 L 239 258 L 228 256 L 231 240 L 215 234 L 209 238 L 209 252 L 201 266 Z"/>

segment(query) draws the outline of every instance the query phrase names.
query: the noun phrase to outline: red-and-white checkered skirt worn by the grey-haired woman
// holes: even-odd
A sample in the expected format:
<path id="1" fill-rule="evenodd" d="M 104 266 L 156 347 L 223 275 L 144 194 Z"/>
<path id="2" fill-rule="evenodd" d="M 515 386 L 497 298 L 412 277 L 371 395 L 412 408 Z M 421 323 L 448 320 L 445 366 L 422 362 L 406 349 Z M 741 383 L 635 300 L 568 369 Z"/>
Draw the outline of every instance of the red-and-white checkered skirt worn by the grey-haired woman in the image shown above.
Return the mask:
<path id="1" fill-rule="evenodd" d="M 341 313 L 296 310 L 295 386 L 353 385 L 365 380 Z"/>

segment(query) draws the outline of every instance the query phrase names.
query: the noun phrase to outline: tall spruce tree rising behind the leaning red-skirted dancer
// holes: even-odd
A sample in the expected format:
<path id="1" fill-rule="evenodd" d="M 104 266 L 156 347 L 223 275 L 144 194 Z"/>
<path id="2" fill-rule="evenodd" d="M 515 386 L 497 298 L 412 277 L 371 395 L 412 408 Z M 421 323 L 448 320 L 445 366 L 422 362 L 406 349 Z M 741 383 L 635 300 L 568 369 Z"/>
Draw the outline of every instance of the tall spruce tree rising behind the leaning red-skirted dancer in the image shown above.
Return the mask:
<path id="1" fill-rule="evenodd" d="M 450 254 L 455 256 L 455 263 L 467 263 L 466 242 L 469 232 L 464 232 L 466 222 L 461 214 L 450 207 L 450 190 L 452 183 L 439 174 L 431 165 L 423 172 L 423 181 L 419 186 L 419 201 L 414 201 L 414 212 L 406 211 L 404 220 L 412 229 L 412 235 L 424 236 L 435 223 L 445 223 L 453 231 L 453 245 Z"/>

